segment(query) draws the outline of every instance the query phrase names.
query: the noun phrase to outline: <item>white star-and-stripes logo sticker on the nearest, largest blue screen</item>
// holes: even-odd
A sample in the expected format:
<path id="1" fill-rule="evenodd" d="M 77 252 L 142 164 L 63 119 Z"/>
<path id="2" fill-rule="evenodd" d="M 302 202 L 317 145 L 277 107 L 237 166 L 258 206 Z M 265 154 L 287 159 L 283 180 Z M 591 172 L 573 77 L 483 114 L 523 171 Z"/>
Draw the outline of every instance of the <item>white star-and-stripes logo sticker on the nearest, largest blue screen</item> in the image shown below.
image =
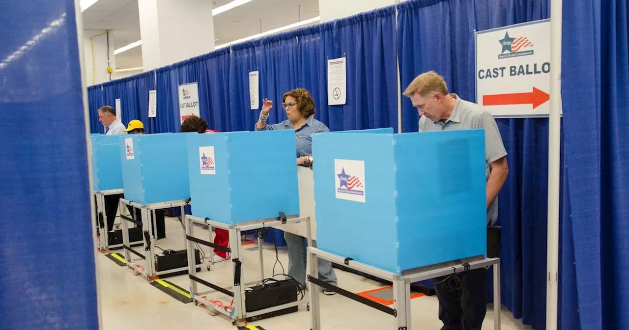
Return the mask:
<path id="1" fill-rule="evenodd" d="M 335 194 L 338 199 L 365 202 L 367 189 L 365 188 L 364 160 L 334 160 Z"/>

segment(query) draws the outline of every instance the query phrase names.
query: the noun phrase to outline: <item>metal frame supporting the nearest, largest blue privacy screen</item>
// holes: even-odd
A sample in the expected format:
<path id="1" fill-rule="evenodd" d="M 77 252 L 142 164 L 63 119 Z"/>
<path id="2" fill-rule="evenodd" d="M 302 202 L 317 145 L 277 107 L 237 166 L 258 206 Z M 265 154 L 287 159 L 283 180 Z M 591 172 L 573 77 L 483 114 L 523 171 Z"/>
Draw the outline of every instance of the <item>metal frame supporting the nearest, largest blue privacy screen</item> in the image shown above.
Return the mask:
<path id="1" fill-rule="evenodd" d="M 334 285 L 325 283 L 318 278 L 317 262 L 318 258 L 328 260 L 333 263 L 344 264 L 345 267 L 352 268 L 359 272 L 368 273 L 370 275 L 389 280 L 393 283 L 393 308 L 379 304 L 359 295 L 340 289 Z M 394 317 L 392 329 L 394 330 L 411 330 L 411 283 L 431 278 L 443 277 L 447 275 L 465 272 L 477 268 L 493 266 L 494 268 L 494 329 L 500 330 L 500 259 L 499 258 L 467 258 L 459 261 L 448 263 L 439 263 L 427 267 L 417 268 L 415 270 L 404 271 L 402 275 L 387 272 L 380 268 L 372 267 L 352 258 L 343 258 L 318 248 L 308 247 L 307 253 L 309 300 L 310 300 L 310 329 L 321 330 L 321 311 L 319 306 L 318 287 L 332 290 L 349 299 L 360 302 L 381 312 Z"/>

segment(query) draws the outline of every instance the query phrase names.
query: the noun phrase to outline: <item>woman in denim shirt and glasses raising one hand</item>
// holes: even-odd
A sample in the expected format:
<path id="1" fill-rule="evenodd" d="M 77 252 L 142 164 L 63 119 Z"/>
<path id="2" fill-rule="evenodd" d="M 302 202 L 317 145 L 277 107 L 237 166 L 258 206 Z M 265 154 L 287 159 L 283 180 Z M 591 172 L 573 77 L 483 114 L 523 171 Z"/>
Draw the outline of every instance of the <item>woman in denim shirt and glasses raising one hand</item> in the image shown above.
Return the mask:
<path id="1" fill-rule="evenodd" d="M 284 94 L 282 108 L 288 118 L 282 123 L 267 124 L 267 118 L 273 107 L 273 101 L 264 99 L 260 118 L 255 124 L 256 131 L 267 129 L 294 129 L 297 143 L 297 165 L 312 164 L 312 135 L 328 132 L 325 124 L 315 119 L 315 100 L 305 89 L 294 89 Z M 291 233 L 284 233 L 288 245 L 288 275 L 295 278 L 302 285 L 306 283 L 306 246 L 305 238 Z M 318 259 L 319 278 L 323 282 L 337 285 L 337 274 L 332 269 L 330 261 Z M 324 294 L 333 295 L 333 291 L 324 290 Z"/>

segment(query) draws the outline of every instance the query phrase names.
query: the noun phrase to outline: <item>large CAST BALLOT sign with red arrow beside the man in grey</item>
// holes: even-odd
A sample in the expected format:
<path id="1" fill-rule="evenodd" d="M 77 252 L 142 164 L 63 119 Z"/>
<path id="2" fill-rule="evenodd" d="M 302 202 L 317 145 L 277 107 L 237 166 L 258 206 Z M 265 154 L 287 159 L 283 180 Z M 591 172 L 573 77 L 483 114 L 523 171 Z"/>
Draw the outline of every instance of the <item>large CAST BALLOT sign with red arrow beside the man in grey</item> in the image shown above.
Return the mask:
<path id="1" fill-rule="evenodd" d="M 548 116 L 550 19 L 478 31 L 476 102 L 494 117 Z"/>

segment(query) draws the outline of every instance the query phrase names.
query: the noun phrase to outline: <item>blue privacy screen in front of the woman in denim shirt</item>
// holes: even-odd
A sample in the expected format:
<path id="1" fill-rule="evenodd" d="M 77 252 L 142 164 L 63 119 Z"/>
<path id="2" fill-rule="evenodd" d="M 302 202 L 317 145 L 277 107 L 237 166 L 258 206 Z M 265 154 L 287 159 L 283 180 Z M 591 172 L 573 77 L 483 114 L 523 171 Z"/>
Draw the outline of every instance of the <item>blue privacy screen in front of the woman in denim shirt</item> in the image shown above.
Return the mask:
<path id="1" fill-rule="evenodd" d="M 226 224 L 299 214 L 295 131 L 187 137 L 192 215 Z"/>

